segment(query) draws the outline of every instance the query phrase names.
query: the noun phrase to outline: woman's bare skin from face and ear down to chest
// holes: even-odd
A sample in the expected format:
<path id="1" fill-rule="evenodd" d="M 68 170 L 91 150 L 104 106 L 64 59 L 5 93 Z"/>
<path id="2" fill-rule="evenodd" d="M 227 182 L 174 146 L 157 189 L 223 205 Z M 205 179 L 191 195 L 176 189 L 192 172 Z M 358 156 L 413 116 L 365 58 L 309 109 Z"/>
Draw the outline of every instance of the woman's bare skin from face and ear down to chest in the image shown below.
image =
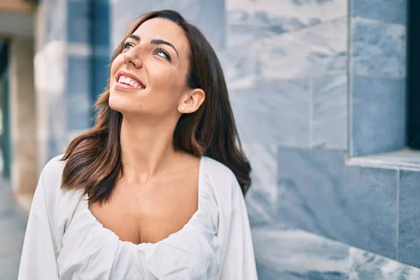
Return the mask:
<path id="1" fill-rule="evenodd" d="M 90 208 L 124 241 L 165 239 L 197 211 L 200 159 L 173 146 L 181 115 L 197 111 L 206 97 L 187 86 L 189 54 L 183 29 L 153 18 L 127 38 L 111 65 L 109 106 L 123 115 L 124 172 L 109 202 Z"/>

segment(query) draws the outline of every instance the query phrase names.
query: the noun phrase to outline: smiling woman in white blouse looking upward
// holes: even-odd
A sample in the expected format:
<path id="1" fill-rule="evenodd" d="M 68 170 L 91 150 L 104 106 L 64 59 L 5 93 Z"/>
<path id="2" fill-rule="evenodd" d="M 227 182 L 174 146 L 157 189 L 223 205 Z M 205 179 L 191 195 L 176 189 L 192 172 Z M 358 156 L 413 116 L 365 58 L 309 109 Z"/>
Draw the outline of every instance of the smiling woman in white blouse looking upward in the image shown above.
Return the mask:
<path id="1" fill-rule="evenodd" d="M 223 72 L 172 10 L 118 46 L 94 127 L 43 169 L 19 279 L 257 279 Z"/>

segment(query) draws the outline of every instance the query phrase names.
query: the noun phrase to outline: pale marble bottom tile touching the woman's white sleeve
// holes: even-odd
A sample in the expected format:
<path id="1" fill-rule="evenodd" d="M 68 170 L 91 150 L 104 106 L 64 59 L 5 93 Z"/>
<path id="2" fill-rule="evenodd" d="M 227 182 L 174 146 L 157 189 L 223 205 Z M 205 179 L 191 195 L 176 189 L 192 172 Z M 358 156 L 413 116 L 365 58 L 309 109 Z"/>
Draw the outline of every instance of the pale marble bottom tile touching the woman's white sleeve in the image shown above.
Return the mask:
<path id="1" fill-rule="evenodd" d="M 282 223 L 252 228 L 252 237 L 259 279 L 311 279 L 348 269 L 348 246 Z"/>

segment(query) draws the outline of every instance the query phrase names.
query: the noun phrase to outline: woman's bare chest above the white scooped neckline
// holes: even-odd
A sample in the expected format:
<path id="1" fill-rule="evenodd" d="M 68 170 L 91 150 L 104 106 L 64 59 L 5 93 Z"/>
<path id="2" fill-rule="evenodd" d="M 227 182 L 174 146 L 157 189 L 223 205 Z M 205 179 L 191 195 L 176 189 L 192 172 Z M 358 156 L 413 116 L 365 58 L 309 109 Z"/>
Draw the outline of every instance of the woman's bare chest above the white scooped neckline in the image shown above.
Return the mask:
<path id="1" fill-rule="evenodd" d="M 144 188 L 116 186 L 109 202 L 90 210 L 123 241 L 156 243 L 178 232 L 197 211 L 197 186 L 174 182 Z"/>

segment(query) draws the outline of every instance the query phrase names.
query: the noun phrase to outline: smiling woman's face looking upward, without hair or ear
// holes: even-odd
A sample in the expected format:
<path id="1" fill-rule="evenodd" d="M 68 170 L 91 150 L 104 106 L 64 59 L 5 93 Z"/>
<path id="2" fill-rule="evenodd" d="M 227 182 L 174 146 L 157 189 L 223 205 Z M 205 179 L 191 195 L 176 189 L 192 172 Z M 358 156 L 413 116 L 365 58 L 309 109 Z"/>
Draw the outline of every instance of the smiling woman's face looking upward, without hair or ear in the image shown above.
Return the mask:
<path id="1" fill-rule="evenodd" d="M 188 38 L 170 20 L 147 20 L 111 64 L 109 106 L 121 113 L 170 116 L 188 94 Z"/>

